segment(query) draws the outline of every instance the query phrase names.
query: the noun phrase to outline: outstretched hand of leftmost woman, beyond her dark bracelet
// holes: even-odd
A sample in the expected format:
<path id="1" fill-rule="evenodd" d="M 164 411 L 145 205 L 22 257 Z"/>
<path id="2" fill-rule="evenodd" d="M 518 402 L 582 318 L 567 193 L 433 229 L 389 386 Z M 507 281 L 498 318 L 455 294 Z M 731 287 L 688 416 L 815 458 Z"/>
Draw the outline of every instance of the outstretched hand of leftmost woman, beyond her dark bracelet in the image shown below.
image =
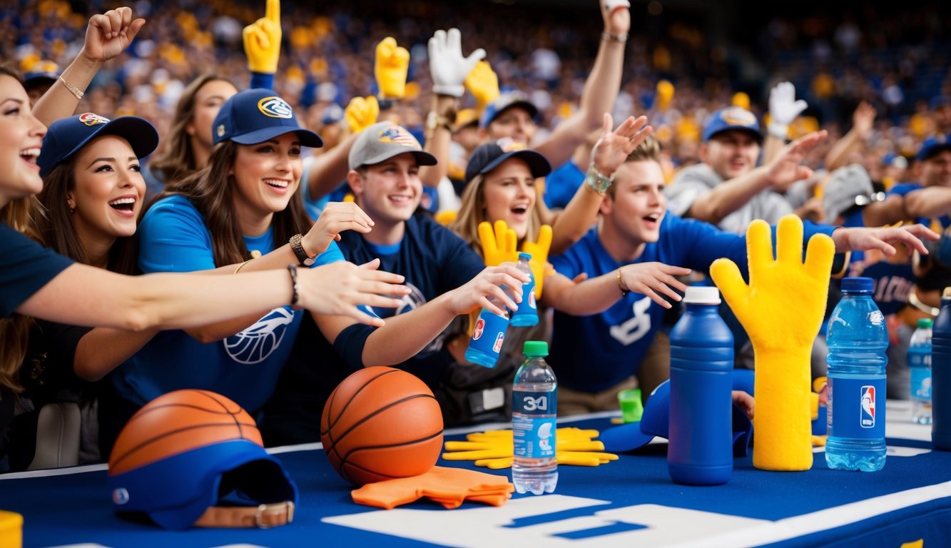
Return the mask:
<path id="1" fill-rule="evenodd" d="M 359 305 L 396 308 L 410 293 L 398 274 L 377 270 L 379 261 L 358 267 L 338 261 L 316 268 L 299 268 L 299 304 L 314 314 L 346 316 L 379 327 L 383 320 L 367 314 Z"/>

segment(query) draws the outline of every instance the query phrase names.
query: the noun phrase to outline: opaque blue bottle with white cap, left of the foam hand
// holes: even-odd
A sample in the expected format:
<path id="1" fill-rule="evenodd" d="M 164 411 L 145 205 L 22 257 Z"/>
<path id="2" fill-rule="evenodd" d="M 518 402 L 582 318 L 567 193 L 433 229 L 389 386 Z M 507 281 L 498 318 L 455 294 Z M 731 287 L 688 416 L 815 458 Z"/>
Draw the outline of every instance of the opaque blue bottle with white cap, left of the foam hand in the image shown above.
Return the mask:
<path id="1" fill-rule="evenodd" d="M 716 287 L 689 286 L 670 330 L 670 479 L 720 485 L 733 473 L 733 334 Z"/>

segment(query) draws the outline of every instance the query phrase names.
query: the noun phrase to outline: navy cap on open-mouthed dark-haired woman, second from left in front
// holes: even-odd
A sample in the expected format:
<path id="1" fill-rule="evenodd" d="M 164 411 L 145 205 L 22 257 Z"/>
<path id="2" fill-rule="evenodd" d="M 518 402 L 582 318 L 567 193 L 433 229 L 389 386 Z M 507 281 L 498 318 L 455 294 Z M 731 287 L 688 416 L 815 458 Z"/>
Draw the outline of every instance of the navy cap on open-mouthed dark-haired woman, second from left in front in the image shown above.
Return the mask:
<path id="1" fill-rule="evenodd" d="M 122 116 L 109 120 L 92 112 L 69 116 L 49 125 L 36 160 L 40 177 L 46 177 L 53 167 L 66 162 L 90 141 L 103 135 L 125 139 L 137 158 L 145 158 L 159 146 L 159 133 L 145 118 Z"/>

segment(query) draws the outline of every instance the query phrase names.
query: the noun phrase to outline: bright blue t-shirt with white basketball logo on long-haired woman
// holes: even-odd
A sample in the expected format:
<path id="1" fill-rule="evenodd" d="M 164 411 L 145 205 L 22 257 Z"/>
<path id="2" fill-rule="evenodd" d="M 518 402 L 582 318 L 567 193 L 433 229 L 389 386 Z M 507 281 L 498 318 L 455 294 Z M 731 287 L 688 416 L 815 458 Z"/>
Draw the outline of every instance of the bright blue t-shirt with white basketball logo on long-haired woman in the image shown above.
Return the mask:
<path id="1" fill-rule="evenodd" d="M 211 233 L 198 209 L 183 196 L 170 196 L 149 208 L 139 224 L 139 237 L 139 267 L 145 273 L 215 268 Z M 262 254 L 274 249 L 271 229 L 244 237 L 244 243 Z M 342 260 L 340 249 L 331 242 L 314 265 Z M 184 331 L 163 331 L 116 369 L 113 382 L 119 394 L 139 405 L 172 390 L 204 388 L 254 413 L 274 389 L 301 316 L 301 311 L 281 306 L 241 333 L 207 344 Z"/>

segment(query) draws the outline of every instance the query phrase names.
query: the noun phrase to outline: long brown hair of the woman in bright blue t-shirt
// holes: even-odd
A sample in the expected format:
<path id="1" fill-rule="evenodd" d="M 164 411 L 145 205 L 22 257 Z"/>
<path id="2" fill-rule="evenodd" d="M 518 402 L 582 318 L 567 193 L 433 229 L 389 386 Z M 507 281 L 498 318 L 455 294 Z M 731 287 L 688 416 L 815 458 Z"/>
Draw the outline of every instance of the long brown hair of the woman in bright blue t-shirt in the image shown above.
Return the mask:
<path id="1" fill-rule="evenodd" d="M 156 204 L 166 196 L 175 194 L 187 198 L 202 214 L 204 225 L 211 232 L 211 246 L 217 266 L 242 263 L 251 258 L 244 245 L 235 211 L 234 176 L 228 174 L 238 157 L 238 147 L 233 141 L 218 144 L 212 150 L 207 166 L 184 179 L 172 181 L 152 201 L 152 204 Z M 271 220 L 274 247 L 286 244 L 294 234 L 306 233 L 313 224 L 301 197 L 295 193 L 287 207 L 275 213 Z"/>

